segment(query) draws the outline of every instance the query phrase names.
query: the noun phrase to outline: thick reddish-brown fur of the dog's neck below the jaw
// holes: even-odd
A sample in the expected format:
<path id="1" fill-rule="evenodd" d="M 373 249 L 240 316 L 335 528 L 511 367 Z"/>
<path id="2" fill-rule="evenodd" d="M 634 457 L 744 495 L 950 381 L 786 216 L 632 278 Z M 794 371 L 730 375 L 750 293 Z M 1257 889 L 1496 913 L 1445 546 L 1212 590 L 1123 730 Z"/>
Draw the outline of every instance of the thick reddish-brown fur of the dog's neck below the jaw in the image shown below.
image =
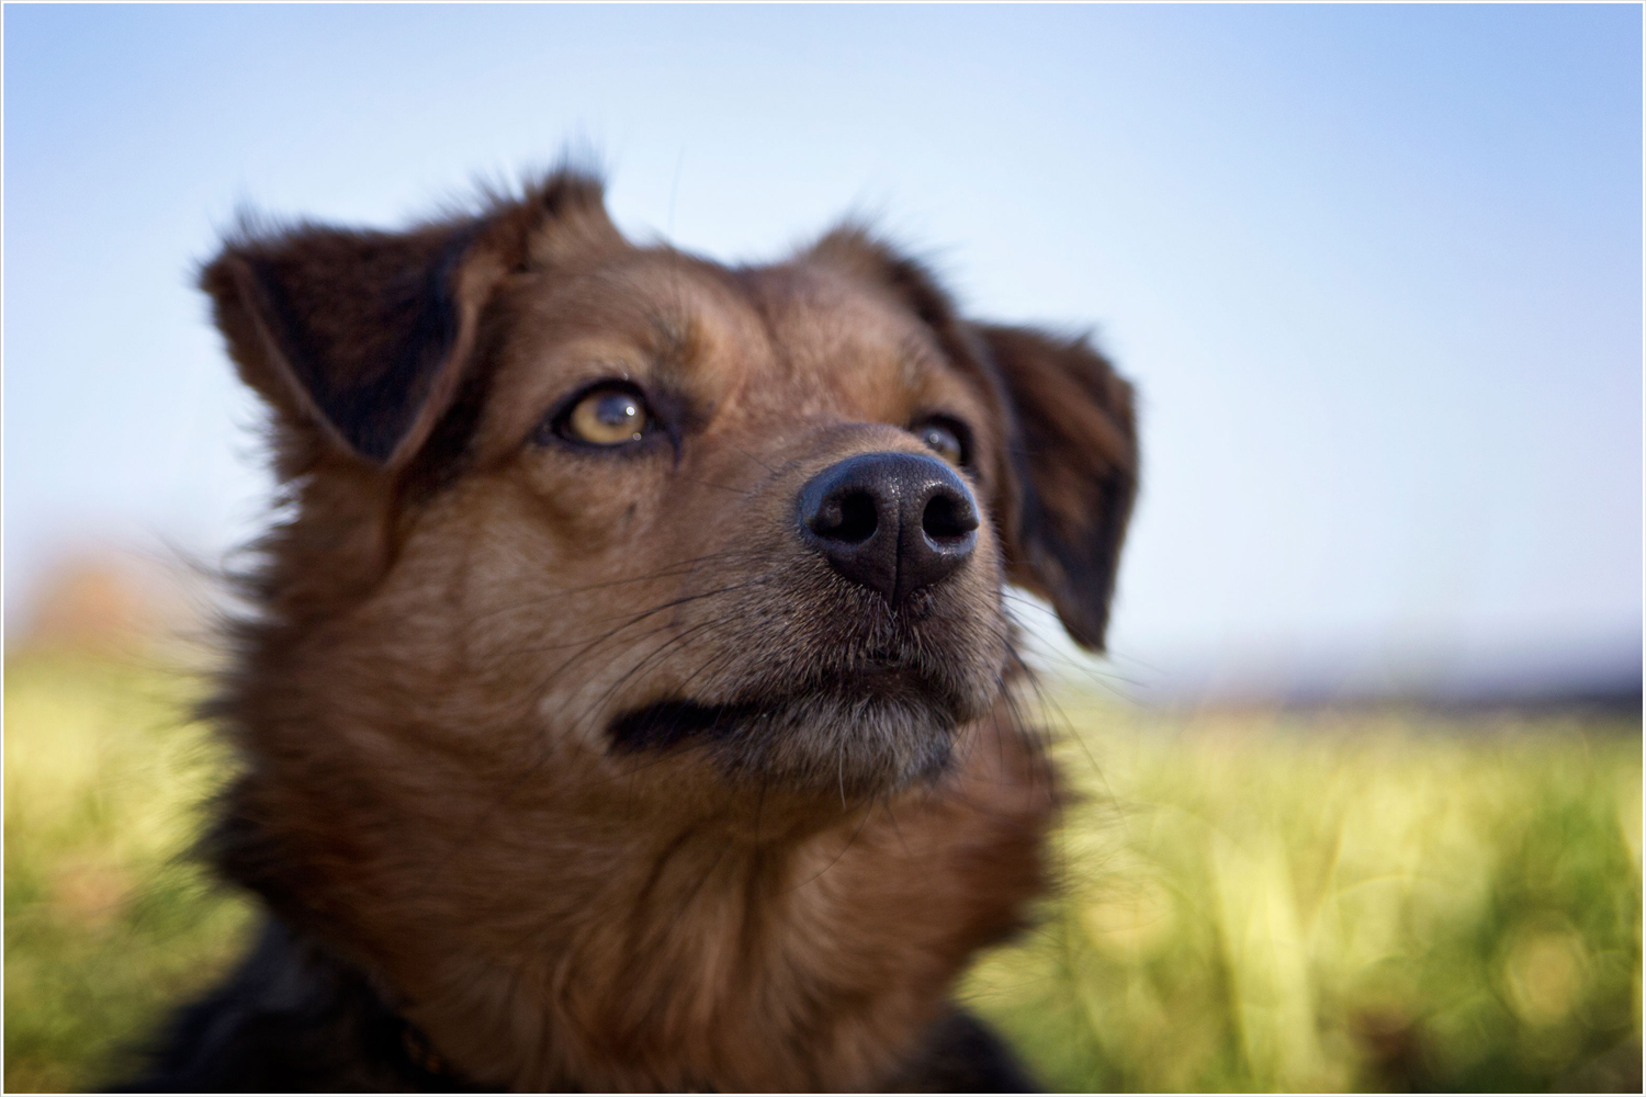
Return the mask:
<path id="1" fill-rule="evenodd" d="M 1055 808 L 1004 715 L 933 786 L 752 819 L 609 783 L 505 798 L 438 758 L 385 781 L 403 747 L 314 730 L 328 745 L 301 755 L 247 735 L 219 862 L 372 974 L 451 1069 L 510 1089 L 882 1085 L 1019 924 Z"/>

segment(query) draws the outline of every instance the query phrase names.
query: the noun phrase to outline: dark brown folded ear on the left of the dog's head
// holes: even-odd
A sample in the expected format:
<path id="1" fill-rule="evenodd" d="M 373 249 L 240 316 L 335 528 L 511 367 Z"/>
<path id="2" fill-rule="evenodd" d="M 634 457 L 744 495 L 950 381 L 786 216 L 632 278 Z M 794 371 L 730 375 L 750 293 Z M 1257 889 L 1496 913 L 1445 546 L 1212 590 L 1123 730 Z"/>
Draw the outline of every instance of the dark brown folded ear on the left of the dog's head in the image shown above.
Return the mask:
<path id="1" fill-rule="evenodd" d="M 614 242 L 601 184 L 563 171 L 408 232 L 242 230 L 201 288 L 240 377 L 286 424 L 398 469 L 456 396 L 499 281 Z"/>

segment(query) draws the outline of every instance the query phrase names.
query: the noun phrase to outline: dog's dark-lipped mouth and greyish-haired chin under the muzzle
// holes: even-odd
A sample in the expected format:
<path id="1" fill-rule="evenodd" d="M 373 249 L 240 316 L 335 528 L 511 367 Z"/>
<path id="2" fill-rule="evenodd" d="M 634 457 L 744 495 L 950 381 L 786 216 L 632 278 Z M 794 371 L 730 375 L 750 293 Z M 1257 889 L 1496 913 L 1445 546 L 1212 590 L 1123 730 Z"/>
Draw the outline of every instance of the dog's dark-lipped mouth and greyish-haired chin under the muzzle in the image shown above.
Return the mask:
<path id="1" fill-rule="evenodd" d="M 858 674 L 780 699 L 670 699 L 607 732 L 617 753 L 701 747 L 732 781 L 863 798 L 942 776 L 978 699 L 935 696 L 897 674 Z"/>

